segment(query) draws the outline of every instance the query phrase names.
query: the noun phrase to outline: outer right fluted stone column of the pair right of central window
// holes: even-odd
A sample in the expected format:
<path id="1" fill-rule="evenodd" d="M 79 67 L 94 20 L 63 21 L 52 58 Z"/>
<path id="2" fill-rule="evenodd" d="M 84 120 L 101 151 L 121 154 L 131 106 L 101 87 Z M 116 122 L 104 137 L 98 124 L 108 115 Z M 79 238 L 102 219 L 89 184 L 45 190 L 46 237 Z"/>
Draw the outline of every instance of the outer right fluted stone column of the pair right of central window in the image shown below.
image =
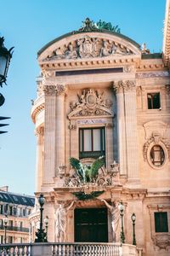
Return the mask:
<path id="1" fill-rule="evenodd" d="M 127 178 L 128 182 L 139 180 L 139 143 L 136 113 L 135 80 L 123 81 L 125 97 L 125 125 L 127 142 Z"/>

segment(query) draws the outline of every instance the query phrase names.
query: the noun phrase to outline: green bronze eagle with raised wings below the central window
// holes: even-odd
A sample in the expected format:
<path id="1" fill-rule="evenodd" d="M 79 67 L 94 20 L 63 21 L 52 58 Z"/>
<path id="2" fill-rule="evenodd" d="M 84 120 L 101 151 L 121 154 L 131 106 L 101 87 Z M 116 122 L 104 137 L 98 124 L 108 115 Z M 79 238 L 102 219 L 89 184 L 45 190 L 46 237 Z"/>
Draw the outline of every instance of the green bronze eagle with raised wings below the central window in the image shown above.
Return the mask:
<path id="1" fill-rule="evenodd" d="M 93 182 L 98 175 L 99 168 L 104 166 L 105 157 L 100 156 L 91 166 L 82 165 L 80 160 L 74 157 L 70 158 L 71 166 L 76 170 L 77 175 L 83 183 Z"/>

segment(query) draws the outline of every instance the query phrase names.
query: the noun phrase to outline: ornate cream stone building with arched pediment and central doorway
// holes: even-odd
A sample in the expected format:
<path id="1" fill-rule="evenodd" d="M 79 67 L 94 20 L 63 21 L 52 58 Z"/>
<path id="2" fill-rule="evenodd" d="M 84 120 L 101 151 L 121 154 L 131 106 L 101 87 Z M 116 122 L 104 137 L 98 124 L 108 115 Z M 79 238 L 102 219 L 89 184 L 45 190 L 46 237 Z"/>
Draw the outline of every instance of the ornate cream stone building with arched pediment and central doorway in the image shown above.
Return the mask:
<path id="1" fill-rule="evenodd" d="M 169 255 L 169 9 L 162 55 L 89 19 L 39 50 L 31 118 L 48 241 L 120 241 L 122 201 L 125 242 L 135 212 L 144 255 Z"/>

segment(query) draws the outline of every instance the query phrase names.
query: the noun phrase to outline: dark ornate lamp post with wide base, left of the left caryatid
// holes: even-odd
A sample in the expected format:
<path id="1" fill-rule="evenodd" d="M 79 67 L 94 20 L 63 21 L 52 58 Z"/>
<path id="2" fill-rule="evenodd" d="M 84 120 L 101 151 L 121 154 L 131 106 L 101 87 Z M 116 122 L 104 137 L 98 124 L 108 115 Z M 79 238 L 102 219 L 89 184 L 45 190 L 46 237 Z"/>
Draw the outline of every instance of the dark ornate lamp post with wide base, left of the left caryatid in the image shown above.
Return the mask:
<path id="1" fill-rule="evenodd" d="M 42 228 L 42 212 L 43 212 L 43 205 L 45 203 L 45 198 L 43 197 L 42 194 L 40 194 L 38 198 L 38 202 L 40 204 L 40 228 L 36 232 L 37 238 L 35 239 L 35 242 L 44 242 L 48 241 L 47 240 L 47 233 L 44 232 L 44 229 Z"/>

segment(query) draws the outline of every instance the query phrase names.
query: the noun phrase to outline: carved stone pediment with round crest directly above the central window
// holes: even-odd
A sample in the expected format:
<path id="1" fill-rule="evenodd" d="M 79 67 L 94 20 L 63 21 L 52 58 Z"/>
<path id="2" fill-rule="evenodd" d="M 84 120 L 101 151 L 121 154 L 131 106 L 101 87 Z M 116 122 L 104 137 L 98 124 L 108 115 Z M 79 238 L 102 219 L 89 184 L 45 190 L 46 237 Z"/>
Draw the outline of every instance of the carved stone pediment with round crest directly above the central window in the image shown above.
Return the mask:
<path id="1" fill-rule="evenodd" d="M 78 96 L 78 102 L 71 102 L 71 113 L 68 117 L 112 115 L 111 106 L 111 100 L 104 100 L 103 94 L 99 94 L 97 90 L 82 90 L 82 95 Z"/>

